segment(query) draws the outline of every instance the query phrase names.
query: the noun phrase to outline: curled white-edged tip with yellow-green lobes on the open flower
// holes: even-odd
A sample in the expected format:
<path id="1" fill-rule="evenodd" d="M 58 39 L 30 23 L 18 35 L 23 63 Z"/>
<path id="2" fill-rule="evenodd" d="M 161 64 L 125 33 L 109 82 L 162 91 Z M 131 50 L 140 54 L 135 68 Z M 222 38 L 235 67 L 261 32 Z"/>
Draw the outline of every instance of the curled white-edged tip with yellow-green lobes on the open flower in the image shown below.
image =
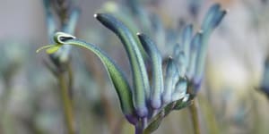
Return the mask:
<path id="1" fill-rule="evenodd" d="M 65 40 L 74 38 L 74 36 L 66 34 L 65 32 L 56 32 L 56 34 L 54 35 L 54 41 L 56 42 L 56 44 L 42 46 L 36 51 L 36 53 L 39 53 L 41 50 L 46 49 L 46 53 L 54 54 L 61 46 L 65 44 Z"/>

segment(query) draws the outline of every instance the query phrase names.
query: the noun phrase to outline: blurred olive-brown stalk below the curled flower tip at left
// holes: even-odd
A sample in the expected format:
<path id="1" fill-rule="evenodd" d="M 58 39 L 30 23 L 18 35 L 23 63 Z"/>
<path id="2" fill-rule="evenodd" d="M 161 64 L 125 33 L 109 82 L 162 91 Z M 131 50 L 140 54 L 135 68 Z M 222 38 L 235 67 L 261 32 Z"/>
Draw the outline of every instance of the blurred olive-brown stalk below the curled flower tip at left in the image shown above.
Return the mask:
<path id="1" fill-rule="evenodd" d="M 58 74 L 58 81 L 61 89 L 61 96 L 63 100 L 63 107 L 65 112 L 65 123 L 68 134 L 74 134 L 74 117 L 72 110 L 72 102 L 68 93 L 68 88 L 65 81 L 65 73 Z"/>

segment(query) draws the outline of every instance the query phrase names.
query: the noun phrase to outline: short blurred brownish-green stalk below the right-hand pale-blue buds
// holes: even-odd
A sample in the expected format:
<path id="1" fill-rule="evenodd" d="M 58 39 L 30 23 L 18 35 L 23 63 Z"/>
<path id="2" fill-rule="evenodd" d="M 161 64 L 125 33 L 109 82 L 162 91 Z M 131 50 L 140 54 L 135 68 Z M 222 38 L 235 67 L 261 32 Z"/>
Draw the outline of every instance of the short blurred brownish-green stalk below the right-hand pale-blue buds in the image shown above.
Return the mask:
<path id="1" fill-rule="evenodd" d="M 193 121 L 195 134 L 201 134 L 200 120 L 199 120 L 199 114 L 198 114 L 198 104 L 197 104 L 196 98 L 194 98 L 193 104 L 190 105 L 188 108 L 189 108 L 191 118 Z"/>

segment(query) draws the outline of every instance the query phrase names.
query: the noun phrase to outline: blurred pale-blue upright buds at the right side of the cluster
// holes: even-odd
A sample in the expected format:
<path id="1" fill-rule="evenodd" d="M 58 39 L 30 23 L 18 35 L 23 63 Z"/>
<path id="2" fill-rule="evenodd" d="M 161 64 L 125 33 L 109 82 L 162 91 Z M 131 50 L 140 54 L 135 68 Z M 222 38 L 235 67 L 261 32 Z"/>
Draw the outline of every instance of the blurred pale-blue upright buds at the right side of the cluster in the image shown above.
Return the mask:
<path id="1" fill-rule="evenodd" d="M 213 4 L 205 14 L 201 30 L 194 35 L 192 25 L 187 25 L 181 31 L 179 45 L 174 47 L 173 58 L 178 64 L 179 76 L 181 80 L 187 77 L 188 83 L 191 83 L 188 92 L 192 96 L 195 96 L 200 88 L 204 75 L 209 36 L 213 29 L 220 24 L 226 13 L 227 11 L 221 10 L 220 4 Z M 185 87 L 184 85 L 181 87 Z"/>

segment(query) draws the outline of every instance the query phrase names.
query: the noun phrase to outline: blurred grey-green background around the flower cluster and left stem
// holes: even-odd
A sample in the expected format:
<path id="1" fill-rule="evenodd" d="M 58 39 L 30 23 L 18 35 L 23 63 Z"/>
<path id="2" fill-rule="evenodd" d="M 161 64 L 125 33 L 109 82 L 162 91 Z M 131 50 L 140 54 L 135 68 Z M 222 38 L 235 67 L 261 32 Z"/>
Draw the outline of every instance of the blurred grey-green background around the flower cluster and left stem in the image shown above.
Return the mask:
<path id="1" fill-rule="evenodd" d="M 74 35 L 104 49 L 130 73 L 120 41 L 93 17 L 131 0 L 76 0 L 80 9 Z M 268 55 L 267 0 L 141 0 L 143 8 L 160 16 L 163 25 L 179 29 L 194 23 L 198 30 L 214 3 L 229 9 L 210 38 L 203 87 L 198 94 L 202 133 L 267 134 L 269 105 L 261 89 Z M 195 2 L 190 2 L 195 1 Z M 0 133 L 65 133 L 57 80 L 46 67 L 49 44 L 46 13 L 41 0 L 1 0 L 0 4 Z M 192 3 L 192 4 L 190 4 Z M 195 9 L 193 8 L 195 3 Z M 121 10 L 119 8 L 119 10 Z M 168 37 L 169 38 L 169 37 Z M 172 53 L 161 45 L 162 54 Z M 72 48 L 73 108 L 78 133 L 133 133 L 120 111 L 117 94 L 98 58 Z M 269 83 L 265 80 L 264 84 Z M 193 133 L 187 109 L 175 111 L 154 133 Z"/>

